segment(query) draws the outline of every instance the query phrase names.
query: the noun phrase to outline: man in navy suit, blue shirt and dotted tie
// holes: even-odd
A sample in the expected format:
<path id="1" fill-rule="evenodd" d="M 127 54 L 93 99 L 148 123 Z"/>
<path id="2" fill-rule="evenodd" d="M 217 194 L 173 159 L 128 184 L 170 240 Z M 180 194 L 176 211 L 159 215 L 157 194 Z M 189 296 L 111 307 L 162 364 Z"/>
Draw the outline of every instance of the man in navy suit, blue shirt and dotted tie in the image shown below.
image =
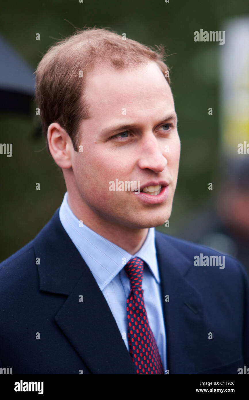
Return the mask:
<path id="1" fill-rule="evenodd" d="M 237 374 L 248 365 L 243 266 L 154 229 L 169 220 L 179 165 L 169 83 L 162 53 L 106 29 L 78 32 L 40 61 L 36 100 L 67 192 L 0 265 L 3 368 Z"/>

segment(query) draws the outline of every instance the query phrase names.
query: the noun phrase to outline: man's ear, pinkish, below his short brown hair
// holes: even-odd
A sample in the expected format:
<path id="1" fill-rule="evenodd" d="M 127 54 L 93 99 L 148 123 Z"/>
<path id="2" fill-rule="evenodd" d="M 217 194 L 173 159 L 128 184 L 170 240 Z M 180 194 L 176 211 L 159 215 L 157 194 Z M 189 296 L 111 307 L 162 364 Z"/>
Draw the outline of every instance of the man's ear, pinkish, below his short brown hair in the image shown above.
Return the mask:
<path id="1" fill-rule="evenodd" d="M 54 161 L 60 168 L 71 168 L 71 156 L 74 146 L 68 133 L 58 124 L 53 122 L 48 127 L 48 147 Z"/>

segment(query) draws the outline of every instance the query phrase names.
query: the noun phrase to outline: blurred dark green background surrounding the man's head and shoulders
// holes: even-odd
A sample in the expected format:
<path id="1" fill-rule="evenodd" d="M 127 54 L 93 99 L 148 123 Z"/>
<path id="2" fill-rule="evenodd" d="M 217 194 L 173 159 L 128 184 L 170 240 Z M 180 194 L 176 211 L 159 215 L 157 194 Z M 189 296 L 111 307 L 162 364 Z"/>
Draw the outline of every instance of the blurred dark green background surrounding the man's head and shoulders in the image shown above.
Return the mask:
<path id="1" fill-rule="evenodd" d="M 36 236 L 66 191 L 41 134 L 34 71 L 48 46 L 74 26 L 110 27 L 165 46 L 181 160 L 169 226 L 157 229 L 231 254 L 249 272 L 247 0 L 23 0 L 2 6 L 0 142 L 12 143 L 13 154 L 0 154 L 0 261 Z M 195 42 L 201 29 L 225 31 L 225 44 Z"/>

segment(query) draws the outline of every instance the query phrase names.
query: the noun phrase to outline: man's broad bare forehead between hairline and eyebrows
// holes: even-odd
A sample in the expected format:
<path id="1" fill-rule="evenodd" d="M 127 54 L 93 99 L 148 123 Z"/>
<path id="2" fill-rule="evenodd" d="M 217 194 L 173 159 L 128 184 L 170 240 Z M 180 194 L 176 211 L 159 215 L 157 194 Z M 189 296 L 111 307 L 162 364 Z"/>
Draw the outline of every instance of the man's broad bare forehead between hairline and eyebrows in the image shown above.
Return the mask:
<path id="1" fill-rule="evenodd" d="M 85 95 L 94 115 L 122 115 L 123 108 L 130 115 L 155 108 L 174 110 L 171 89 L 155 62 L 125 70 L 100 66 L 86 78 Z"/>

